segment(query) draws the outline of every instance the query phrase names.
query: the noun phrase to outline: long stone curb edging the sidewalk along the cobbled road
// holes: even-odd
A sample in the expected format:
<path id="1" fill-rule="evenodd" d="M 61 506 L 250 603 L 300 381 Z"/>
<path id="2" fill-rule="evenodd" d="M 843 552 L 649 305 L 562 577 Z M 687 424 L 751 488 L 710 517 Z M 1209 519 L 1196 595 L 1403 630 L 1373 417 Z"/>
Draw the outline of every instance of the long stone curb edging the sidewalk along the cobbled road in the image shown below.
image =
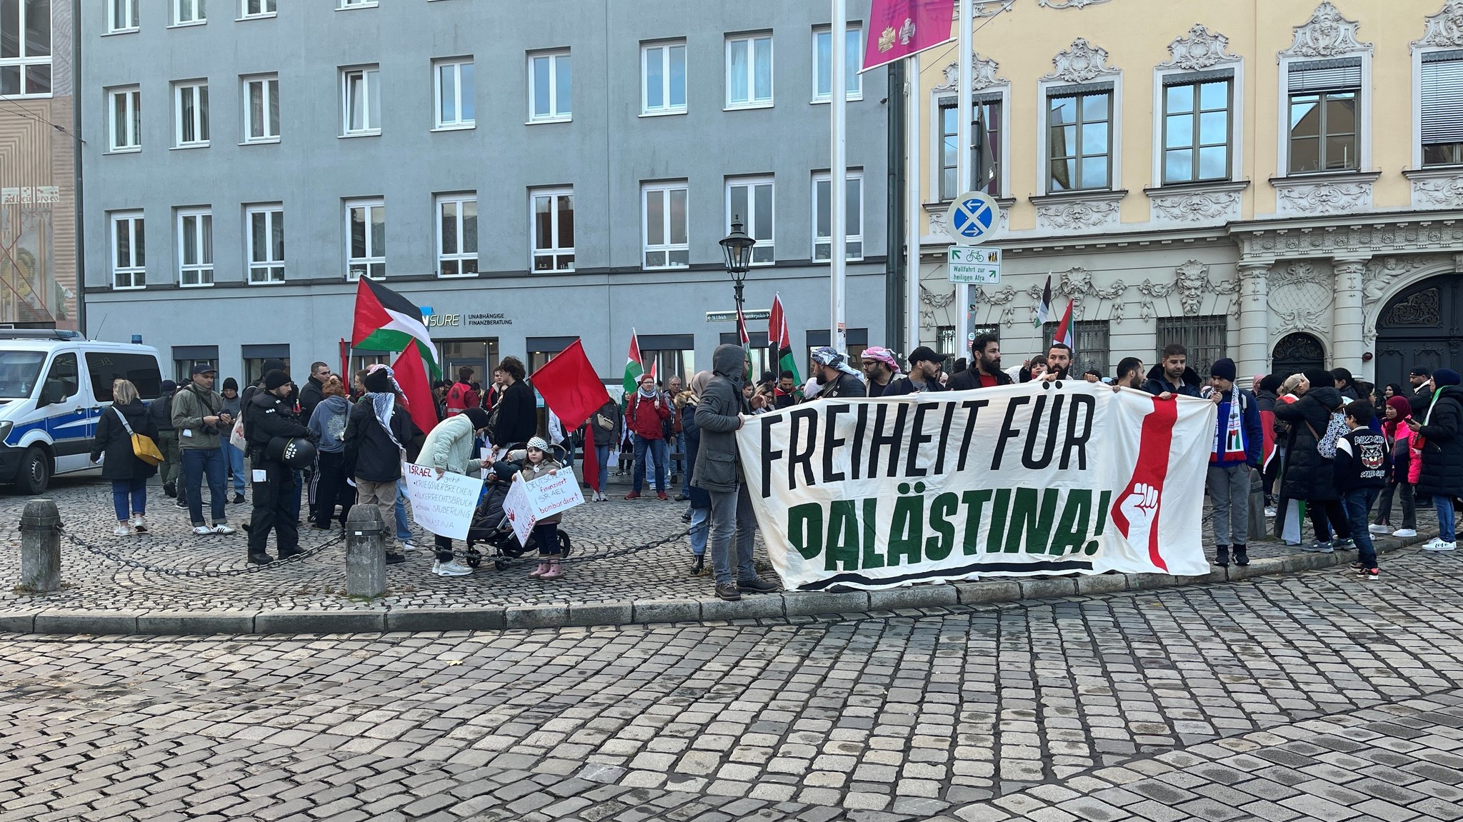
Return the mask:
<path id="1" fill-rule="evenodd" d="M 1375 540 L 1377 553 L 1421 544 L 1409 540 Z M 534 604 L 489 608 L 410 608 L 344 611 L 82 611 L 42 610 L 0 613 L 0 633 L 86 635 L 250 635 L 250 633 L 379 633 L 427 630 L 503 630 L 601 625 L 648 625 L 698 620 L 781 619 L 816 614 L 859 614 L 898 608 L 936 608 L 954 604 L 1001 604 L 1072 595 L 1153 591 L 1181 585 L 1239 582 L 1260 576 L 1334 568 L 1350 562 L 1346 551 L 1293 553 L 1260 557 L 1248 566 L 1213 568 L 1201 576 L 1167 573 L 1100 573 L 1049 579 L 990 579 L 914 585 L 887 591 L 809 591 L 751 594 L 739 603 L 723 600 L 636 600 L 587 604 Z"/>

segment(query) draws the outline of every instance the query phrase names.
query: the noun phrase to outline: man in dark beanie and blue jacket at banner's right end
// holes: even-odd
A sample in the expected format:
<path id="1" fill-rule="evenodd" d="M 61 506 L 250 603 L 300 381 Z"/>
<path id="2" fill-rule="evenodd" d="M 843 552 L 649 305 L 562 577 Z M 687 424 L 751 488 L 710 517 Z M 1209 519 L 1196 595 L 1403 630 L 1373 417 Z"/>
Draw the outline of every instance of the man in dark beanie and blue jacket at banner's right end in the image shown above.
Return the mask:
<path id="1" fill-rule="evenodd" d="M 1214 565 L 1249 565 L 1249 470 L 1260 468 L 1264 429 L 1254 393 L 1235 385 L 1235 361 L 1216 361 L 1208 383 L 1219 395 L 1219 420 L 1208 453 L 1208 499 L 1214 505 Z"/>

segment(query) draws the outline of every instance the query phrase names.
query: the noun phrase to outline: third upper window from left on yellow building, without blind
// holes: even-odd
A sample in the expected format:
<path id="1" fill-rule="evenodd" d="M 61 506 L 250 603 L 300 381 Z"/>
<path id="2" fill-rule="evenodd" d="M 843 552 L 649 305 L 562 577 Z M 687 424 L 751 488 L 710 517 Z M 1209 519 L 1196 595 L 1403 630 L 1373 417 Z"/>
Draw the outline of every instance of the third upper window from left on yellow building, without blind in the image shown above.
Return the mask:
<path id="1" fill-rule="evenodd" d="M 1163 80 L 1163 184 L 1229 180 L 1233 76 Z"/>

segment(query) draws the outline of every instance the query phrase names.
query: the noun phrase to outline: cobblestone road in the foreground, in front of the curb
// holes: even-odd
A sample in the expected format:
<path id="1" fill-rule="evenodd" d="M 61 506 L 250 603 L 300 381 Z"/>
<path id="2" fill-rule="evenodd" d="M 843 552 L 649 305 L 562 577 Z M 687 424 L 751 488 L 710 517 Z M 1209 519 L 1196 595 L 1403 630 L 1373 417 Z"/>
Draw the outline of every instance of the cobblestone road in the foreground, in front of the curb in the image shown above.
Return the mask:
<path id="1" fill-rule="evenodd" d="M 0 821 L 1463 818 L 1463 559 L 556 630 L 0 636 Z"/>

